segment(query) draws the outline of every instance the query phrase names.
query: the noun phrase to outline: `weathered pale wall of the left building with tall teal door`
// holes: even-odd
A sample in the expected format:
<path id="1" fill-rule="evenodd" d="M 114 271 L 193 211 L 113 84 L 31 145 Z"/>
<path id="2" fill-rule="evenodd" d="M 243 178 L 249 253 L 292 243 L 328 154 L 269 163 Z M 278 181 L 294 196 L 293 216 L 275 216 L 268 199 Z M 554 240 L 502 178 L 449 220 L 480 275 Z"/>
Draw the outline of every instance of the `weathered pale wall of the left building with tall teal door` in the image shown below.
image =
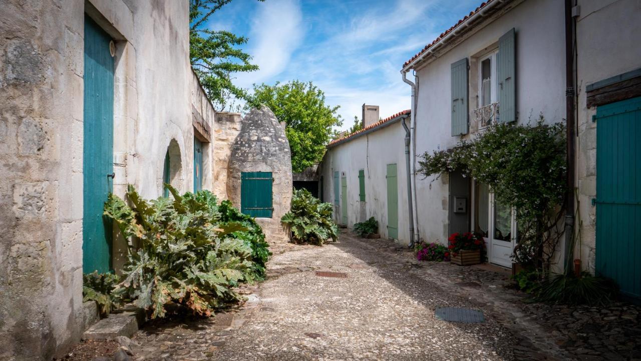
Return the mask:
<path id="1" fill-rule="evenodd" d="M 194 127 L 213 107 L 188 58 L 188 1 L 4 0 L 0 5 L 0 360 L 49 360 L 82 317 L 85 13 L 115 42 L 113 191 L 192 190 Z M 199 124 L 194 124 L 194 121 Z M 212 187 L 205 145 L 203 187 Z M 208 176 L 208 174 L 210 174 Z M 113 265 L 126 244 L 114 239 Z"/>

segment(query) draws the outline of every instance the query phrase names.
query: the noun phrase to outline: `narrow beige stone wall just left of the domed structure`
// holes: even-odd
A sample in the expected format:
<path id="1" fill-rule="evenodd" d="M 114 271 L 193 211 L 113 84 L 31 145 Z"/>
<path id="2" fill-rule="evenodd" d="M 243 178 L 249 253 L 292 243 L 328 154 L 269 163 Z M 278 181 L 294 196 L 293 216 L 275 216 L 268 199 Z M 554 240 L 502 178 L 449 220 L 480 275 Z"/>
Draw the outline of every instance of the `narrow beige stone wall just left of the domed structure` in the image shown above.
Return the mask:
<path id="1" fill-rule="evenodd" d="M 216 113 L 213 126 L 213 194 L 218 199 L 227 197 L 227 167 L 231 146 L 240 133 L 240 113 Z"/>

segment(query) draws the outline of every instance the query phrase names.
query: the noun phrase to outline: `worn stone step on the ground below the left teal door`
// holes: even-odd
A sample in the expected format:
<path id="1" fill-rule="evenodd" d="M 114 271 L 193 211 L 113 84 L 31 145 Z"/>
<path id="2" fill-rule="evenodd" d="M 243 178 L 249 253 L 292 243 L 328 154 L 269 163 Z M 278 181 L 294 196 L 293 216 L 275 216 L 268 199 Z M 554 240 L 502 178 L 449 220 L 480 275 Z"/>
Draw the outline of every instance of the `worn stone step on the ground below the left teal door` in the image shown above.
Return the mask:
<path id="1" fill-rule="evenodd" d="M 132 337 L 145 322 L 142 308 L 127 305 L 101 319 L 85 331 L 87 340 L 113 340 L 118 336 Z"/>

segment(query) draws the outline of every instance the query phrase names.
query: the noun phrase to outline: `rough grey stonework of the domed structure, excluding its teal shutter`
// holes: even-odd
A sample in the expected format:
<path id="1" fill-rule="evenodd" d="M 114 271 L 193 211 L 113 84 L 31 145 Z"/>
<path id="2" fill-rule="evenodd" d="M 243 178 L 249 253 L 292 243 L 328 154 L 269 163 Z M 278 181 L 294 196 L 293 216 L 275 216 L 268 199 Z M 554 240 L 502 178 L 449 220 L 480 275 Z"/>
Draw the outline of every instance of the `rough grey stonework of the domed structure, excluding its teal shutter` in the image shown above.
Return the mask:
<path id="1" fill-rule="evenodd" d="M 220 118 L 219 118 L 220 119 Z M 285 130 L 267 106 L 251 110 L 242 120 L 227 173 L 227 195 L 240 208 L 240 173 L 272 172 L 272 218 L 256 218 L 268 242 L 287 242 L 289 231 L 280 219 L 292 205 L 292 158 Z"/>

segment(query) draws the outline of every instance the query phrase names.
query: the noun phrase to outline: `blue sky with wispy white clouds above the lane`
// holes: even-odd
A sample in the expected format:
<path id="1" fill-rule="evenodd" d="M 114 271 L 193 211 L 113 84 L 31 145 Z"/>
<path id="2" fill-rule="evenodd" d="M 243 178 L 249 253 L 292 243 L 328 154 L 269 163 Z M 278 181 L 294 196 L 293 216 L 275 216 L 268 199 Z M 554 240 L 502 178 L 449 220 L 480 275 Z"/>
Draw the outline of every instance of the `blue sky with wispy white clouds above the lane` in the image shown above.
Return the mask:
<path id="1" fill-rule="evenodd" d="M 385 118 L 409 109 L 401 67 L 481 0 L 235 0 L 207 24 L 248 38 L 242 49 L 260 70 L 235 83 L 312 81 L 340 106 L 340 130 L 379 105 Z M 408 78 L 411 78 L 408 74 Z"/>

